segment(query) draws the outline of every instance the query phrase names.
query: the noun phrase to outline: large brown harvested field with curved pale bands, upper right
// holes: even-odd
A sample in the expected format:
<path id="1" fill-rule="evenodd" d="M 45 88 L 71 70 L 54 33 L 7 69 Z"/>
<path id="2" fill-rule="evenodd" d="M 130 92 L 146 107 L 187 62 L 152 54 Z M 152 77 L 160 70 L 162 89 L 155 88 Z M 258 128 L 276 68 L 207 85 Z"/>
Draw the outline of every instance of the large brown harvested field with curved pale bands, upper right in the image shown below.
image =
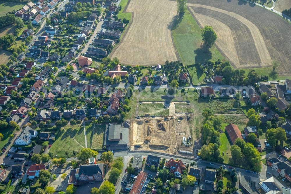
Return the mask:
<path id="1" fill-rule="evenodd" d="M 278 60 L 278 73 L 290 75 L 291 25 L 279 15 L 244 1 L 188 0 L 187 6 L 200 27 L 213 26 L 215 46 L 234 67 L 268 67 Z"/>

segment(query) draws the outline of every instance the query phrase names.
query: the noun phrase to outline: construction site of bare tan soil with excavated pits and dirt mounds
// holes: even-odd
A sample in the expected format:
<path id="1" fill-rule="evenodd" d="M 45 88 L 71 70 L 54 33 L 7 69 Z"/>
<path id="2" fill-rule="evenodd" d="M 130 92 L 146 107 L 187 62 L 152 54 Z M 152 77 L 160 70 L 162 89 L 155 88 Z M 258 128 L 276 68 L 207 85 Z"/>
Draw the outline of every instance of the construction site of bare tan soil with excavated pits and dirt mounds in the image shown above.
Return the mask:
<path id="1" fill-rule="evenodd" d="M 158 151 L 167 154 L 193 155 L 194 140 L 191 133 L 189 119 L 192 113 L 176 113 L 175 104 L 190 106 L 186 102 L 144 102 L 138 103 L 136 119 L 130 125 L 130 149 Z M 167 115 L 152 116 L 156 110 L 144 112 L 145 105 L 164 108 Z M 139 107 L 143 111 L 139 111 Z M 162 111 L 162 110 L 159 110 Z M 199 137 L 198 137 L 199 138 Z"/>

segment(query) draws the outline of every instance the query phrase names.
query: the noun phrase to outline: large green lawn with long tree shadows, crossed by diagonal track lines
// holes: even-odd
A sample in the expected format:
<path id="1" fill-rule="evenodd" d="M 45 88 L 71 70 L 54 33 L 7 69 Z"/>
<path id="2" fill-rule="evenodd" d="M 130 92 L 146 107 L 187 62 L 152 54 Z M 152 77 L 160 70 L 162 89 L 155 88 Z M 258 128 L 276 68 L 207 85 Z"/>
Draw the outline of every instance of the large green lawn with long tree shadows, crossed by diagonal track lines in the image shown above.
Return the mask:
<path id="1" fill-rule="evenodd" d="M 73 156 L 73 151 L 79 152 L 85 147 L 83 125 L 65 126 L 56 132 L 56 140 L 49 149 L 53 157 L 62 158 Z M 68 155 L 65 152 L 68 151 Z"/>

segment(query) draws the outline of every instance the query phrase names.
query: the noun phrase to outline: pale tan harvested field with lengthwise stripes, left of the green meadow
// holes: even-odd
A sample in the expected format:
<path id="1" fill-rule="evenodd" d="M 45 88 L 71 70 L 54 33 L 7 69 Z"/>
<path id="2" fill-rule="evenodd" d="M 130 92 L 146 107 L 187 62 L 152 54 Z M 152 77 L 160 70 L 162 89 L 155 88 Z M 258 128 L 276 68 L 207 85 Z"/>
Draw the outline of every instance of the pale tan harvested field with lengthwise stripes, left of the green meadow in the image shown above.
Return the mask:
<path id="1" fill-rule="evenodd" d="M 178 60 L 171 37 L 171 22 L 177 12 L 175 1 L 131 0 L 125 11 L 132 12 L 132 22 L 111 58 L 132 66 Z"/>

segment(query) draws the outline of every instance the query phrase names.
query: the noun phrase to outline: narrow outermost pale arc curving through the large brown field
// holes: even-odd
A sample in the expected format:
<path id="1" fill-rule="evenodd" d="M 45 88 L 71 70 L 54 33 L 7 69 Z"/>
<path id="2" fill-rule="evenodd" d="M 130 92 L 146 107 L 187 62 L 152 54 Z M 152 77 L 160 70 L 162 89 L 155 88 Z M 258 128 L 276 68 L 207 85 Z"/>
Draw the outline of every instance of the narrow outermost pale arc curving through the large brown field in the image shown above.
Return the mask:
<path id="1" fill-rule="evenodd" d="M 187 3 L 187 5 L 199 8 L 199 9 L 195 9 L 194 11 L 198 11 L 198 10 L 207 11 L 205 9 L 208 9 L 209 13 L 214 13 L 214 12 L 223 13 L 223 14 L 229 15 L 230 17 L 235 18 L 239 22 L 242 22 L 250 30 L 250 33 L 251 33 L 251 35 L 253 37 L 253 40 L 254 40 L 255 47 L 256 47 L 258 55 L 260 57 L 260 61 L 262 63 L 261 65 L 263 65 L 263 66 L 270 65 L 270 62 L 272 61 L 272 58 L 271 58 L 271 56 L 270 56 L 270 54 L 269 54 L 269 52 L 267 50 L 264 38 L 262 37 L 258 27 L 255 24 L 253 24 L 251 21 L 247 20 L 246 18 L 242 17 L 241 15 L 238 15 L 238 14 L 233 13 L 233 12 L 228 12 L 228 11 L 223 10 L 223 9 L 214 8 L 214 7 L 206 6 L 206 5 L 200 5 L 200 4 L 192 4 L 192 3 Z M 200 14 L 202 14 L 202 13 L 200 13 Z M 205 15 L 207 15 L 207 14 L 205 14 Z M 214 18 L 214 16 L 213 16 L 213 18 Z M 221 19 L 220 17 L 215 17 L 215 18 L 218 19 L 218 20 Z M 249 40 L 249 41 L 251 41 L 251 40 Z M 239 52 L 241 52 L 241 51 L 239 51 Z M 254 61 L 254 64 L 255 64 L 255 61 Z M 243 65 L 245 65 L 245 64 L 243 64 Z"/>

